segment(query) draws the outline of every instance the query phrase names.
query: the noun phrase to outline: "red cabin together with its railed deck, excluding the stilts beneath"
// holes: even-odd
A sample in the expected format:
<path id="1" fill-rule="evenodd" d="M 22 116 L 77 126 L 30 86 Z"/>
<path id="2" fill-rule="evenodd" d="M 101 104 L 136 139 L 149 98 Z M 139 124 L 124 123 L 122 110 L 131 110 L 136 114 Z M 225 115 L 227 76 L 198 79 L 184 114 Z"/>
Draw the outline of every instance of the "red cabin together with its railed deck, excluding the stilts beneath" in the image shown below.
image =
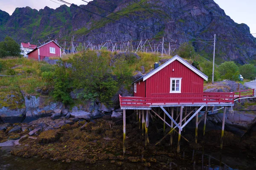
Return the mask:
<path id="1" fill-rule="evenodd" d="M 134 97 L 120 96 L 121 108 L 159 105 L 233 105 L 233 93 L 204 92 L 208 77 L 178 55 L 133 82 Z"/>

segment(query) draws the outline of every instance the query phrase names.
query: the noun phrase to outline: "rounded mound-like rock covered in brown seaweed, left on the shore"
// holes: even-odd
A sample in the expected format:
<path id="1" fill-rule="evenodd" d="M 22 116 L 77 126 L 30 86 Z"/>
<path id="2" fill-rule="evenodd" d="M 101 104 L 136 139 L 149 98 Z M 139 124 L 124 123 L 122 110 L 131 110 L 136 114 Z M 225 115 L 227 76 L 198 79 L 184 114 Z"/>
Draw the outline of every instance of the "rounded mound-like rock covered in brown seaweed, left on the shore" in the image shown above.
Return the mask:
<path id="1" fill-rule="evenodd" d="M 61 133 L 59 133 L 59 130 L 47 130 L 42 132 L 37 139 L 38 143 L 51 143 L 56 142 L 58 139 L 60 139 Z"/>

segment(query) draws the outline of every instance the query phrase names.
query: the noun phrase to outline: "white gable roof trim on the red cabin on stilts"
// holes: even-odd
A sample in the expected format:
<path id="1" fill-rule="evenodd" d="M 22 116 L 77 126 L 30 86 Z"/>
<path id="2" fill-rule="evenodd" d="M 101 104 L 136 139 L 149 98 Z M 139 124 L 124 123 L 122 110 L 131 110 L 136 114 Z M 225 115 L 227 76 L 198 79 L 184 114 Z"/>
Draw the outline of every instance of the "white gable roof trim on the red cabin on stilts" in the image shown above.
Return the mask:
<path id="1" fill-rule="evenodd" d="M 172 57 L 172 59 L 169 59 L 167 62 L 165 62 L 163 65 L 161 65 L 160 67 L 154 69 L 153 71 L 151 71 L 151 73 L 147 74 L 145 77 L 143 77 L 143 81 L 145 81 L 146 79 L 148 79 L 149 77 L 153 76 L 154 74 L 156 74 L 158 71 L 162 70 L 163 68 L 165 68 L 167 65 L 169 65 L 170 63 L 174 62 L 175 60 L 178 60 L 179 62 L 181 62 L 182 64 L 184 64 L 187 68 L 189 68 L 190 70 L 194 71 L 196 74 L 198 74 L 200 77 L 202 77 L 203 79 L 205 79 L 206 81 L 208 81 L 208 77 L 203 74 L 201 71 L 199 71 L 198 69 L 196 69 L 195 67 L 193 67 L 191 64 L 189 64 L 188 62 L 186 62 L 184 59 L 182 59 L 180 56 L 175 55 L 174 57 Z"/>

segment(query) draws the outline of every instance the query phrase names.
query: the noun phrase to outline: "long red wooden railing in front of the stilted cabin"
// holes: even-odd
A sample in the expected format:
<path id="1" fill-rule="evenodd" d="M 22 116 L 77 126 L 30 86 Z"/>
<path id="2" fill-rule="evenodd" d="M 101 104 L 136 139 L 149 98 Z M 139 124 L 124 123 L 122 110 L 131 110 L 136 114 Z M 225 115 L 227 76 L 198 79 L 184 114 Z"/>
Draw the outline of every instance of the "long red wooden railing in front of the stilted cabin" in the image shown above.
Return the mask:
<path id="1" fill-rule="evenodd" d="M 180 103 L 234 103 L 234 93 L 180 93 L 180 94 L 151 94 L 151 97 L 122 97 L 119 95 L 121 106 L 149 107 L 150 105 L 167 105 Z"/>

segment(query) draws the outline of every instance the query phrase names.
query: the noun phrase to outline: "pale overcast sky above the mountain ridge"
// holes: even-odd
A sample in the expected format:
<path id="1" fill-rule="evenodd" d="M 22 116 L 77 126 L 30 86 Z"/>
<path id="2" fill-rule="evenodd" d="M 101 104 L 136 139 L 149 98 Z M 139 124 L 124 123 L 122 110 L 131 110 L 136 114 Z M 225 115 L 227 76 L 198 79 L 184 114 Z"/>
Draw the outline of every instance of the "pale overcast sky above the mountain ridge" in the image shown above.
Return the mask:
<path id="1" fill-rule="evenodd" d="M 86 4 L 82 0 L 65 1 L 77 5 Z M 225 13 L 236 23 L 245 23 L 250 27 L 250 32 L 252 34 L 256 33 L 256 0 L 215 0 L 215 2 L 224 9 Z M 0 0 L 0 9 L 11 15 L 16 7 L 29 6 L 39 10 L 45 6 L 57 8 L 60 4 L 63 3 L 58 0 Z M 253 36 L 256 37 L 256 34 Z"/>

